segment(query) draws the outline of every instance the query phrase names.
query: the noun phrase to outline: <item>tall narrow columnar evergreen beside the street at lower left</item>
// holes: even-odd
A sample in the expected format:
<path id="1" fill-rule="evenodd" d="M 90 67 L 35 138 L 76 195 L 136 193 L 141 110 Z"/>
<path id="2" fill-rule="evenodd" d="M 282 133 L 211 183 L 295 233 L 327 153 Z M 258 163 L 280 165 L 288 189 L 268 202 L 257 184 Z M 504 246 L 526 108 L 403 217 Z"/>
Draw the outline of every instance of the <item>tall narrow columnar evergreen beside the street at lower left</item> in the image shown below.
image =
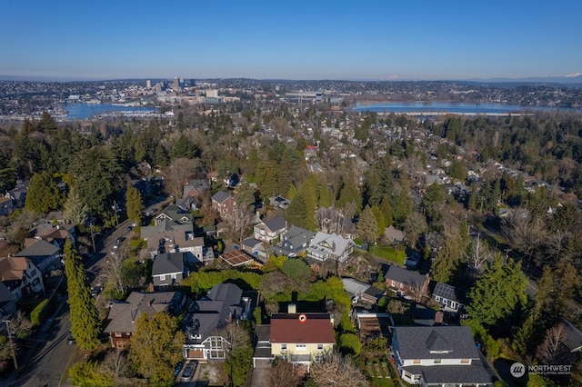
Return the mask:
<path id="1" fill-rule="evenodd" d="M 68 238 L 65 242 L 65 274 L 71 333 L 79 348 L 94 350 L 99 345 L 99 314 L 95 309 L 95 298 L 91 294 L 82 258 Z"/>

